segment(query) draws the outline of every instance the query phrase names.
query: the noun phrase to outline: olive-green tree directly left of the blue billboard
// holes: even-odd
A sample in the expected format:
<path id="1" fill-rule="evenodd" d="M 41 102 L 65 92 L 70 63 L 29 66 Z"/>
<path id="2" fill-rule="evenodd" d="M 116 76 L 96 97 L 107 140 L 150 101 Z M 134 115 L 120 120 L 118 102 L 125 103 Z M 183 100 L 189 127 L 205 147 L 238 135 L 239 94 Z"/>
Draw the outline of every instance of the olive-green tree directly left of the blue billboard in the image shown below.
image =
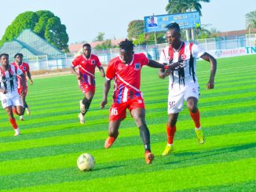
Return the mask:
<path id="1" fill-rule="evenodd" d="M 132 20 L 128 24 L 128 39 L 138 38 L 139 34 L 144 33 L 144 20 Z"/>

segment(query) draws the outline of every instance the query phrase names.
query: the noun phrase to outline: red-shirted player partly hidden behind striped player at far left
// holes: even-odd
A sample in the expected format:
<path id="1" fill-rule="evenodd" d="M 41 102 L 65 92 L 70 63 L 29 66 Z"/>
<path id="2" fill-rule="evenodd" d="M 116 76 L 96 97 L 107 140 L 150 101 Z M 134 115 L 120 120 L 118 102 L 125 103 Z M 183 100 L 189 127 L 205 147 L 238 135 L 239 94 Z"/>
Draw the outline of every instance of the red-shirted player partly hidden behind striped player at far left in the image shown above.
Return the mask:
<path id="1" fill-rule="evenodd" d="M 19 95 L 20 95 L 20 99 L 23 103 L 23 106 L 24 106 L 24 110 L 27 111 L 27 114 L 30 115 L 30 109 L 27 105 L 27 102 L 26 102 L 26 96 L 27 96 L 27 78 L 29 79 L 29 82 L 30 82 L 30 85 L 33 85 L 33 81 L 32 81 L 32 78 L 31 78 L 31 73 L 30 73 L 30 70 L 29 70 L 29 65 L 28 63 L 24 63 L 23 62 L 23 54 L 22 53 L 16 53 L 15 56 L 14 56 L 14 59 L 15 59 L 15 62 L 12 63 L 14 66 L 16 67 L 19 67 L 20 70 L 23 72 L 24 74 L 24 77 L 25 77 L 25 87 L 23 88 L 22 87 L 22 79 L 17 76 L 17 80 L 18 80 L 18 92 L 19 92 Z M 26 78 L 26 74 L 27 74 L 27 78 Z M 21 91 L 24 89 L 24 94 L 21 95 Z M 20 120 L 21 121 L 24 121 L 24 116 L 23 115 L 20 115 Z"/>

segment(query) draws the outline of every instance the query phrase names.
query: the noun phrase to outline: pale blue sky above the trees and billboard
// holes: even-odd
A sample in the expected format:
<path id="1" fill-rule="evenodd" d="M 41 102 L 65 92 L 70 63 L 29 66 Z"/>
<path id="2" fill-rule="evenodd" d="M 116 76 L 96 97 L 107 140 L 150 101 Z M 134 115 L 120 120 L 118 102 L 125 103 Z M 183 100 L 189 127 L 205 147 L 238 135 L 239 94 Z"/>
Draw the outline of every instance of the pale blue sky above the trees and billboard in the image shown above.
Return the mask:
<path id="1" fill-rule="evenodd" d="M 15 17 L 25 11 L 49 10 L 67 27 L 69 43 L 92 41 L 99 32 L 105 38 L 126 38 L 131 20 L 166 14 L 167 0 L 7 0 L 1 3 L 0 37 Z M 201 24 L 218 31 L 245 29 L 245 14 L 256 10 L 256 0 L 211 0 L 201 3 Z"/>

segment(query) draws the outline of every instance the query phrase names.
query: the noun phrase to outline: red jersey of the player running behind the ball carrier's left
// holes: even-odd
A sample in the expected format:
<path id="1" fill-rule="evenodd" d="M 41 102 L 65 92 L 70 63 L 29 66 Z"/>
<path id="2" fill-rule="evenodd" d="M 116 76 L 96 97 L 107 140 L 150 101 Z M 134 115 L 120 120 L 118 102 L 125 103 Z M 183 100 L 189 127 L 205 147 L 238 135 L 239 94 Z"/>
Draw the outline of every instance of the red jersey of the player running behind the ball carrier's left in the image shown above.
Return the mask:
<path id="1" fill-rule="evenodd" d="M 87 75 L 89 75 L 89 78 L 94 79 L 95 74 L 95 67 L 101 67 L 101 61 L 96 55 L 90 54 L 90 58 L 86 59 L 86 56 L 81 55 L 77 56 L 75 60 L 72 61 L 71 64 L 72 67 L 79 66 L 79 74 L 82 74 L 82 76 L 88 78 Z M 85 74 L 85 75 L 84 75 Z"/>

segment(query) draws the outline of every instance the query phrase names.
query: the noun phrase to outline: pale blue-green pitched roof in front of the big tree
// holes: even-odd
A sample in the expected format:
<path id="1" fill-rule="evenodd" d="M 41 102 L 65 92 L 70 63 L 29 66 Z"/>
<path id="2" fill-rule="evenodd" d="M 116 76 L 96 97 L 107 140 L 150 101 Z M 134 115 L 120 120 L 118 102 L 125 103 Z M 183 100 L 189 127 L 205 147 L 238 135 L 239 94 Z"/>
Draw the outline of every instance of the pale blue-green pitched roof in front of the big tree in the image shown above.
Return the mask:
<path id="1" fill-rule="evenodd" d="M 24 56 L 63 54 L 30 29 L 22 31 L 12 42 L 5 42 L 0 48 L 0 53 L 8 53 L 9 56 L 14 56 L 16 53 L 22 53 Z"/>

